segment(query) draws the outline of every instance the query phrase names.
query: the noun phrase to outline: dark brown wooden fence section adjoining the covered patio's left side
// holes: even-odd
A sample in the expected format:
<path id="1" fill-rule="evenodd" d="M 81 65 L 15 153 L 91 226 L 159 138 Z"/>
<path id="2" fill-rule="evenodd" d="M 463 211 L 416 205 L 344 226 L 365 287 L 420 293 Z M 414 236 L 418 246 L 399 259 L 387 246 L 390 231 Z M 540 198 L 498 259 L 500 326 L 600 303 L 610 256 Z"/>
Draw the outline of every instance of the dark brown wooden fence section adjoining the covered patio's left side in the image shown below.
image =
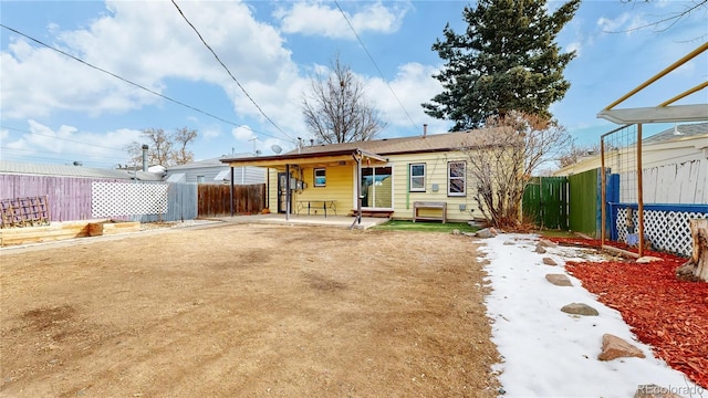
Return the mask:
<path id="1" fill-rule="evenodd" d="M 231 214 L 230 186 L 200 184 L 198 188 L 199 217 Z M 233 186 L 233 212 L 237 214 L 257 214 L 266 207 L 266 185 Z"/>

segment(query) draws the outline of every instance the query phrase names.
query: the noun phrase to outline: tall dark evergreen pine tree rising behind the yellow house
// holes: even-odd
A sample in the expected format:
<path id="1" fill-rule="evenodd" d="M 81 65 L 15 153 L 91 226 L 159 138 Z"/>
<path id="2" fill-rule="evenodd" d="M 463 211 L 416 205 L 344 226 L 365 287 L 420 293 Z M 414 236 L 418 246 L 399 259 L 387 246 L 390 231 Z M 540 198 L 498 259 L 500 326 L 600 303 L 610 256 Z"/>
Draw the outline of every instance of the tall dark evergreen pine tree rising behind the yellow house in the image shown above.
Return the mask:
<path id="1" fill-rule="evenodd" d="M 555 43 L 581 0 L 552 13 L 546 0 L 479 0 L 465 8 L 465 33 L 445 27 L 433 50 L 446 61 L 434 77 L 442 93 L 423 104 L 426 114 L 455 122 L 451 130 L 479 127 L 510 111 L 550 118 L 549 107 L 570 88 L 563 76 L 574 52 Z"/>

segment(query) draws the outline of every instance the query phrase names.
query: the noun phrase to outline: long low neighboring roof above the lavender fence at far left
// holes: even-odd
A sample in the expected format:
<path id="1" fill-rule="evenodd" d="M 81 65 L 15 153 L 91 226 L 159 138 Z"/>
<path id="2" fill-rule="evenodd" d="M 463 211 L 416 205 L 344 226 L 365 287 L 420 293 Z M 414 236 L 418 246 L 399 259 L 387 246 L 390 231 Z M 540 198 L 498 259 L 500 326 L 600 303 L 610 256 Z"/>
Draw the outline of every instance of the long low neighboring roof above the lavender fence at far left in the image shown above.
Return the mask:
<path id="1" fill-rule="evenodd" d="M 155 175 L 145 171 L 103 169 L 83 166 L 67 165 L 46 165 L 31 164 L 21 161 L 0 160 L 0 174 L 21 174 L 21 175 L 41 175 L 41 176 L 62 176 L 62 177 L 84 177 L 84 178 L 113 178 L 113 179 L 133 179 L 137 174 L 138 180 L 160 181 L 162 174 Z"/>

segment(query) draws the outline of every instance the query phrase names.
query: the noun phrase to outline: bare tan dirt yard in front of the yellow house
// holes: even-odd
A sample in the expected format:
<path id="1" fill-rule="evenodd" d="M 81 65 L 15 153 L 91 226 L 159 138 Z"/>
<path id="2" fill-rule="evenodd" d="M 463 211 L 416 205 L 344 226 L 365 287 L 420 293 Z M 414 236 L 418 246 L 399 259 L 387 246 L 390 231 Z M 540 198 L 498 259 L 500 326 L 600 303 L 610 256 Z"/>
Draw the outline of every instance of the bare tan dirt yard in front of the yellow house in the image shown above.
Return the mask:
<path id="1" fill-rule="evenodd" d="M 2 397 L 493 397 L 470 238 L 223 224 L 3 250 Z"/>

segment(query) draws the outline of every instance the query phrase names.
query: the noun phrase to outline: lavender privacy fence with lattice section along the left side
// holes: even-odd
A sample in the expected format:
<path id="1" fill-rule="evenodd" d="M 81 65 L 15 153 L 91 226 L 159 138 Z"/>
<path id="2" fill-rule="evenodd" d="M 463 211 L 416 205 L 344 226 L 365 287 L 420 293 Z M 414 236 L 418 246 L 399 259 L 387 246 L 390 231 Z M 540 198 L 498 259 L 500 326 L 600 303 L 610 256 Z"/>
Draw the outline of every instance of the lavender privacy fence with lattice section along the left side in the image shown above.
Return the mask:
<path id="1" fill-rule="evenodd" d="M 104 187 L 113 185 L 131 185 L 135 188 L 104 190 L 98 199 L 94 195 L 93 185 Z M 152 186 L 150 188 L 138 188 Z M 155 186 L 162 188 L 155 188 Z M 136 195 L 127 195 L 132 191 Z M 142 196 L 137 192 L 142 191 Z M 162 192 L 162 193 L 156 193 Z M 113 195 L 113 196 L 111 196 Z M 189 184 L 164 184 L 112 179 L 92 179 L 76 177 L 28 176 L 28 175 L 0 175 L 0 199 L 22 197 L 46 196 L 50 206 L 51 221 L 76 221 L 94 218 L 113 218 L 132 221 L 181 221 L 197 217 L 197 186 Z M 159 197 L 160 206 L 155 205 Z M 103 205 L 103 210 L 94 213 L 94 201 Z M 144 212 L 126 209 L 113 209 L 107 211 L 107 202 L 119 203 L 132 209 L 142 209 Z M 166 210 L 165 210 L 166 206 Z M 112 213 L 112 214 L 108 214 Z M 95 216 L 94 216 L 95 214 Z M 101 214 L 101 216 L 100 216 Z"/>

